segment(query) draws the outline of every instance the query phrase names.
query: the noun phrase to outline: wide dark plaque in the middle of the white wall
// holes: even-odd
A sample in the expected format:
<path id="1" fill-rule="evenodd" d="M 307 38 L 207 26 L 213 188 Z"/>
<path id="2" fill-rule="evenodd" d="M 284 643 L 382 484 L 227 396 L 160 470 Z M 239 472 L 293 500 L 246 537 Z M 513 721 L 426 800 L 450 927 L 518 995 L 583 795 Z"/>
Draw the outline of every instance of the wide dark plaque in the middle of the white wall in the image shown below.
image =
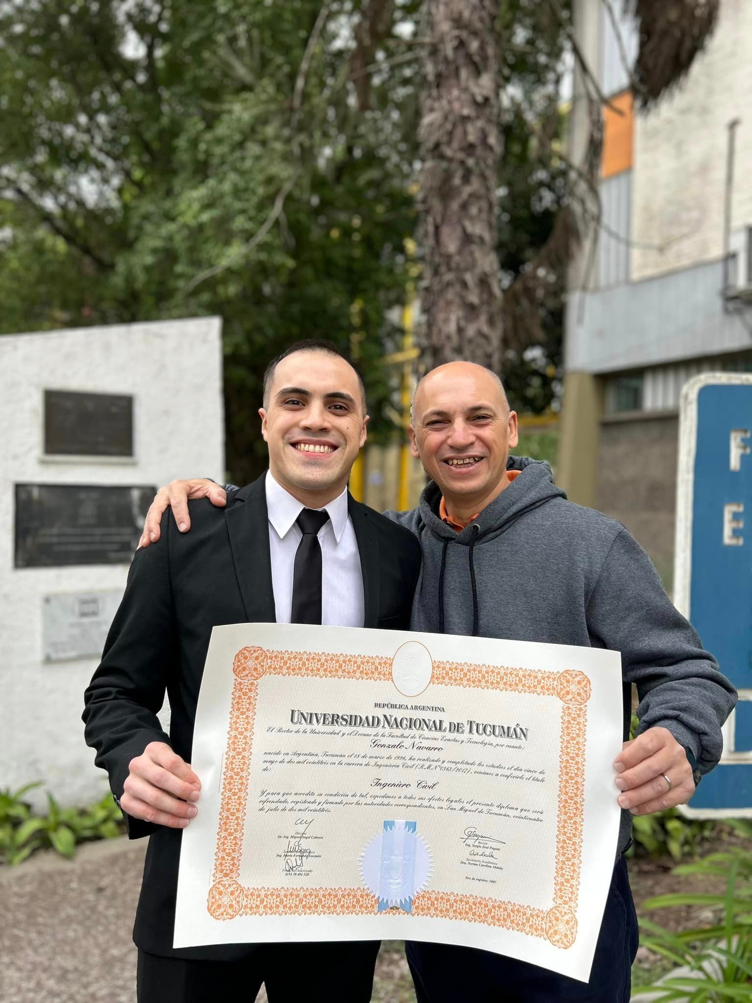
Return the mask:
<path id="1" fill-rule="evenodd" d="M 129 564 L 155 488 L 16 484 L 16 568 Z"/>

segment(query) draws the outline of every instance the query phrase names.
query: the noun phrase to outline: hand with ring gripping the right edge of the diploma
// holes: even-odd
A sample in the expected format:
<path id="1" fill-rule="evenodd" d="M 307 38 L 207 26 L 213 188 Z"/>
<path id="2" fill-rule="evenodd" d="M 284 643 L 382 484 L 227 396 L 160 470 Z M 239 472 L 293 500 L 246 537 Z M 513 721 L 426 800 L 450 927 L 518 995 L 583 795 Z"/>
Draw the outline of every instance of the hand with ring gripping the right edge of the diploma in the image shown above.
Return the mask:
<path id="1" fill-rule="evenodd" d="M 648 728 L 625 742 L 614 766 L 619 773 L 616 783 L 622 791 L 617 800 L 633 814 L 686 804 L 695 792 L 687 752 L 668 728 Z"/>

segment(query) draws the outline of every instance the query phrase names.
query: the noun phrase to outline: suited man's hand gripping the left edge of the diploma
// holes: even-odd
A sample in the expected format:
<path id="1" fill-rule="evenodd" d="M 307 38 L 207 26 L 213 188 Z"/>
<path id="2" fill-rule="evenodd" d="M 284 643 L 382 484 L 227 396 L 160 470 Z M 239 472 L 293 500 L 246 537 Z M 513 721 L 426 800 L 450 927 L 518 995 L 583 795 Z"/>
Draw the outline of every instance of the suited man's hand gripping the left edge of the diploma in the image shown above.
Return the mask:
<path id="1" fill-rule="evenodd" d="M 201 780 L 166 742 L 149 742 L 128 764 L 119 804 L 133 818 L 184 828 L 197 814 Z"/>

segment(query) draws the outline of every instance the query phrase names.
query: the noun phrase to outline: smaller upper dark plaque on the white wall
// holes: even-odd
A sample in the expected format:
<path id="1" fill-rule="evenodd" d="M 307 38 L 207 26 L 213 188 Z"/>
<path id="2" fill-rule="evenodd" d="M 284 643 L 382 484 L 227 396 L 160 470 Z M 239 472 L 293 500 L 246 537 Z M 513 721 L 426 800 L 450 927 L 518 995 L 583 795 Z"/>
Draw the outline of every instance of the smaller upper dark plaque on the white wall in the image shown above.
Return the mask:
<path id="1" fill-rule="evenodd" d="M 44 451 L 47 455 L 132 456 L 133 398 L 45 390 Z"/>

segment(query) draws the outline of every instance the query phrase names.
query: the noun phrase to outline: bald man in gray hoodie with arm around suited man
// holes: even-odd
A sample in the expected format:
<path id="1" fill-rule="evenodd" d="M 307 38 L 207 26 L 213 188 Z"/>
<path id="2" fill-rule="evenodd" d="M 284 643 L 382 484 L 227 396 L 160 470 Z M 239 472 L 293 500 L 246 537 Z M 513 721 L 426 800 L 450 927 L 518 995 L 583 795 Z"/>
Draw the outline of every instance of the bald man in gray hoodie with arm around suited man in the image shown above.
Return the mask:
<path id="1" fill-rule="evenodd" d="M 568 501 L 547 463 L 509 456 L 516 415 L 492 372 L 452 362 L 428 373 L 415 392 L 410 435 L 430 481 L 417 509 L 386 515 L 423 552 L 411 627 L 621 651 L 625 737 L 615 761 L 619 855 L 590 982 L 485 951 L 408 943 L 418 1003 L 628 1003 L 638 946 L 623 857 L 632 815 L 689 800 L 720 758 L 734 689 L 629 532 Z M 149 510 L 143 543 L 158 535 L 170 501 L 178 525 L 190 527 L 186 491 L 223 501 L 211 481 L 174 481 Z M 630 742 L 632 683 L 640 728 Z"/>

